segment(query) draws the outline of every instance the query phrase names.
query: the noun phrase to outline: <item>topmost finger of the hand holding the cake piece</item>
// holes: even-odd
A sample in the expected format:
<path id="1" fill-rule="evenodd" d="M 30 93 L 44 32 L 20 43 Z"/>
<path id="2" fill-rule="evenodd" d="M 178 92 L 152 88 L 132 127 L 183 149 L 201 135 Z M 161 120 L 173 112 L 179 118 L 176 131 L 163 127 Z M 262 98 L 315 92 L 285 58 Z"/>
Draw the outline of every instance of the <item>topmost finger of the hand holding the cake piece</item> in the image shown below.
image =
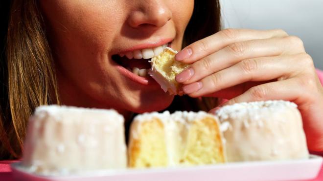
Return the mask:
<path id="1" fill-rule="evenodd" d="M 192 63 L 196 60 L 200 60 L 203 57 L 210 55 L 213 52 L 219 51 L 220 49 L 228 46 L 234 42 L 256 40 L 256 39 L 270 39 L 270 38 L 281 38 L 287 37 L 287 33 L 283 30 L 249 30 L 249 29 L 225 29 L 214 35 L 211 35 L 205 39 L 196 41 L 176 56 L 176 60 L 182 60 L 185 63 Z"/>

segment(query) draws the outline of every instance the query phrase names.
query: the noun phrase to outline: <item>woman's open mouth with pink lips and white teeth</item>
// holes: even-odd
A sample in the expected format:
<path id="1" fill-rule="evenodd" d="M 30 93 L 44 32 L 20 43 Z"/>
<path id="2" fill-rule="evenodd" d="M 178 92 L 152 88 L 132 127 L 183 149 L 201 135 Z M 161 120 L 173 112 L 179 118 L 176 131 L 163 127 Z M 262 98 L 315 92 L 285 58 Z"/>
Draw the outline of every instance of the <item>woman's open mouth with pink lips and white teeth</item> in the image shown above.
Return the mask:
<path id="1" fill-rule="evenodd" d="M 151 67 L 149 61 L 151 58 L 158 56 L 170 43 L 158 44 L 160 45 L 156 46 L 157 44 L 153 44 L 149 48 L 121 51 L 113 55 L 112 59 L 118 64 L 117 68 L 122 75 L 143 85 L 157 84 L 147 74 Z"/>

